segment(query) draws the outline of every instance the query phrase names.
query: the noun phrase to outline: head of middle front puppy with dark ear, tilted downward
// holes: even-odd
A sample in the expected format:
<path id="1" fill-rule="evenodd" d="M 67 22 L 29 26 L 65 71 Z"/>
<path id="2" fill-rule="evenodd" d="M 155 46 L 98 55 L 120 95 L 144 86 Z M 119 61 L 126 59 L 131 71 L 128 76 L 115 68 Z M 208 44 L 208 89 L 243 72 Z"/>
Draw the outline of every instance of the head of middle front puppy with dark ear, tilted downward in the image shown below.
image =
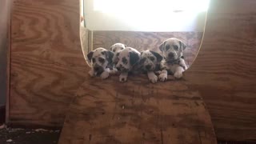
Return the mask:
<path id="1" fill-rule="evenodd" d="M 118 64 L 116 68 L 120 71 L 130 71 L 133 66 L 138 63 L 140 60 L 140 53 L 134 48 L 127 47 L 124 50 L 121 50 L 118 54 Z"/>

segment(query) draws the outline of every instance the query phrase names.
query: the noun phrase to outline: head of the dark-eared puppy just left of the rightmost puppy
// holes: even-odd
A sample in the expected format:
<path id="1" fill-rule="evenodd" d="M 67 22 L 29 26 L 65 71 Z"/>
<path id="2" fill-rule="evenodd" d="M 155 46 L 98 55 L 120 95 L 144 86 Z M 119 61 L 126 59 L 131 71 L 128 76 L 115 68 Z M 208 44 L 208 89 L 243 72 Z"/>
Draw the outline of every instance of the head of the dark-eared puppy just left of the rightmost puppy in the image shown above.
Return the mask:
<path id="1" fill-rule="evenodd" d="M 142 70 L 153 71 L 155 66 L 162 61 L 162 56 L 152 50 L 143 50 L 141 53 L 140 66 Z"/>

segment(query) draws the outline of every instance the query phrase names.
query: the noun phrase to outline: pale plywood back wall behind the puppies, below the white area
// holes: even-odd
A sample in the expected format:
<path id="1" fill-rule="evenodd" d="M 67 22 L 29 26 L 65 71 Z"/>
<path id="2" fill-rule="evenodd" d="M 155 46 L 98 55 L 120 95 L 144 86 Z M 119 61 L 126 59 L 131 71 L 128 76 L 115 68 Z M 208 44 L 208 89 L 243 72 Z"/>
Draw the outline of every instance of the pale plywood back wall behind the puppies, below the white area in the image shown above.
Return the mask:
<path id="1" fill-rule="evenodd" d="M 180 38 L 186 43 L 184 51 L 188 66 L 192 64 L 202 40 L 202 32 L 134 32 L 134 31 L 94 31 L 94 48 L 110 48 L 114 43 L 122 42 L 135 49 L 154 50 L 167 38 Z"/>

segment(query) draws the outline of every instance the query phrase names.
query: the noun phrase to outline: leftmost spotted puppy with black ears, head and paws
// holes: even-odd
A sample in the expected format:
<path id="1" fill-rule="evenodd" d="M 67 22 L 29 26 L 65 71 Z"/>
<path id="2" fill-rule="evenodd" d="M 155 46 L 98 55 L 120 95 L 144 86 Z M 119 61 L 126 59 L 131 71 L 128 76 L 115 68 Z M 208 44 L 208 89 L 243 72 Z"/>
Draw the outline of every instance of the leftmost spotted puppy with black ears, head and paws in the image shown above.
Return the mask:
<path id="1" fill-rule="evenodd" d="M 91 77 L 100 75 L 102 79 L 108 78 L 110 75 L 110 68 L 113 66 L 114 53 L 102 47 L 90 51 L 87 58 L 92 63 L 92 68 L 89 71 Z"/>

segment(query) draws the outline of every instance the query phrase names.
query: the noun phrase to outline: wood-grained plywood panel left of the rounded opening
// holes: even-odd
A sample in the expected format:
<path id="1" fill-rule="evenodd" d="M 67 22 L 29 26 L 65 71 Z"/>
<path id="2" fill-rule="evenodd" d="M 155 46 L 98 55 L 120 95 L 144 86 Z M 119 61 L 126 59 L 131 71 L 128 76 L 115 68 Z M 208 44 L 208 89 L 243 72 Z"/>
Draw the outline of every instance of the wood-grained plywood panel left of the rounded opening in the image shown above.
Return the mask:
<path id="1" fill-rule="evenodd" d="M 62 126 L 86 71 L 79 1 L 14 0 L 12 13 L 9 124 Z"/>

